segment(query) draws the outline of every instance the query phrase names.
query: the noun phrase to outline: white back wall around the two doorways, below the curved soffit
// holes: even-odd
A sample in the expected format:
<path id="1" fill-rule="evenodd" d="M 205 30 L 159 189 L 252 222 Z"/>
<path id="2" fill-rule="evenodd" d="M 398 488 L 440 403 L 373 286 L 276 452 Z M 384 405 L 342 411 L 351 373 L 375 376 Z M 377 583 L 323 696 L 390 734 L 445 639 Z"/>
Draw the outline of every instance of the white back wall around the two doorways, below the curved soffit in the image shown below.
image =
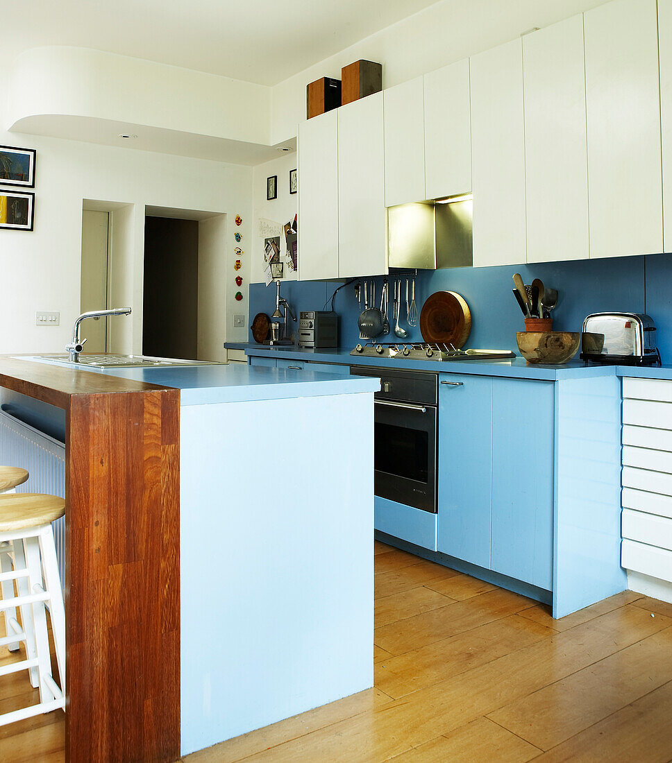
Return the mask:
<path id="1" fill-rule="evenodd" d="M 0 124 L 5 124 L 3 87 L 0 82 Z M 121 259 L 115 259 L 113 229 L 115 299 L 124 303 L 128 299 L 134 308 L 131 317 L 112 319 L 119 322 L 116 330 L 111 328 L 117 351 L 121 346 L 141 350 L 146 204 L 227 214 L 231 220 L 241 214 L 244 236 L 251 230 L 249 167 L 3 130 L 0 144 L 37 149 L 34 232 L 0 230 L 5 285 L 0 301 L 0 353 L 59 352 L 68 342 L 73 320 L 79 314 L 83 199 L 131 205 L 128 211 L 113 214 L 113 218 L 127 218 L 124 230 L 117 231 L 127 241 L 125 249 L 121 248 L 126 253 Z M 112 224 L 115 226 L 114 219 Z M 233 280 L 234 245 L 231 235 L 226 241 L 229 281 Z M 229 288 L 228 283 L 221 286 Z M 37 310 L 60 311 L 60 327 L 35 326 Z M 86 336 L 86 326 L 83 333 Z M 222 341 L 227 338 L 225 333 L 222 330 Z"/>

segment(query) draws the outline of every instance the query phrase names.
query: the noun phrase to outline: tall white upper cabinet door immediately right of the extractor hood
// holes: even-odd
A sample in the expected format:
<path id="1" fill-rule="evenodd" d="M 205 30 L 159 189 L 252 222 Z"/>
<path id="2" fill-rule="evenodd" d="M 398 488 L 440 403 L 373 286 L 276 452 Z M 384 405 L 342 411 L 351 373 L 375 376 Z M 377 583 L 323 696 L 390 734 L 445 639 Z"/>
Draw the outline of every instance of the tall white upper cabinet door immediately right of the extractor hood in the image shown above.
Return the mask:
<path id="1" fill-rule="evenodd" d="M 470 59 L 473 264 L 525 262 L 522 43 Z"/>

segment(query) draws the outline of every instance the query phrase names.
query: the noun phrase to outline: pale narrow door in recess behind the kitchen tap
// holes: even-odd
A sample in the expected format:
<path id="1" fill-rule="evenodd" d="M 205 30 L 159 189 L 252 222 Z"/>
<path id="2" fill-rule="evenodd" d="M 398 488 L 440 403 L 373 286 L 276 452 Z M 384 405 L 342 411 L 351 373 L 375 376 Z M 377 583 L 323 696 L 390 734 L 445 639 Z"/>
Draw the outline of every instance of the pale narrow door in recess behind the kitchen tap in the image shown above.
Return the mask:
<path id="1" fill-rule="evenodd" d="M 82 211 L 82 282 L 80 311 L 108 306 L 108 212 Z M 107 318 L 86 322 L 85 353 L 105 353 Z"/>

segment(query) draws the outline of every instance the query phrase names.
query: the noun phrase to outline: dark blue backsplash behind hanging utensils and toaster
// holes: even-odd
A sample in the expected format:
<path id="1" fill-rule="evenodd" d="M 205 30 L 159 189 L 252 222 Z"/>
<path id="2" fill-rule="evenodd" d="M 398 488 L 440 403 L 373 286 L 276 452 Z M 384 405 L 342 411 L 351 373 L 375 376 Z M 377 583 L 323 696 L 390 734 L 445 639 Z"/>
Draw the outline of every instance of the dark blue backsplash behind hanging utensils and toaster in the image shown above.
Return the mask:
<path id="1" fill-rule="evenodd" d="M 525 283 L 541 278 L 544 285 L 557 288 L 553 312 L 554 330 L 580 331 L 589 313 L 618 311 L 647 313 L 657 327 L 657 344 L 664 363 L 672 362 L 672 254 L 656 254 L 612 259 L 584 259 L 577 262 L 544 262 L 493 268 L 454 268 L 418 272 L 415 301 L 418 311 L 435 291 L 457 291 L 471 311 L 468 347 L 516 350 L 515 332 L 524 330 L 522 314 L 512 295 L 512 275 L 519 272 Z M 376 278 L 376 299 L 380 304 L 383 276 Z M 329 309 L 328 301 L 339 283 L 283 282 L 281 294 L 298 314 L 301 310 Z M 257 313 L 275 309 L 275 285 L 250 285 L 250 320 Z M 359 341 L 357 317 L 360 307 L 354 285 L 336 295 L 335 309 L 341 316 L 340 346 L 353 347 Z M 405 324 L 409 340 L 422 340 L 419 327 Z M 392 304 L 389 307 L 392 321 Z M 295 330 L 296 333 L 296 330 Z M 250 341 L 253 341 L 250 335 Z M 394 341 L 390 334 L 382 341 Z"/>

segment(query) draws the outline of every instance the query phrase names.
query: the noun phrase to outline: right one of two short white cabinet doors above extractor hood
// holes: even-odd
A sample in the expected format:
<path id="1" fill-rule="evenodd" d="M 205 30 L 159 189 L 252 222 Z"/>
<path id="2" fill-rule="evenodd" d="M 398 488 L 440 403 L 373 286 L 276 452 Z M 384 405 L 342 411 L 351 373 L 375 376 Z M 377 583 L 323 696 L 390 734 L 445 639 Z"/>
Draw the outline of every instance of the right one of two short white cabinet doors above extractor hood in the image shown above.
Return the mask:
<path id="1" fill-rule="evenodd" d="M 425 198 L 471 191 L 469 59 L 425 74 Z"/>

